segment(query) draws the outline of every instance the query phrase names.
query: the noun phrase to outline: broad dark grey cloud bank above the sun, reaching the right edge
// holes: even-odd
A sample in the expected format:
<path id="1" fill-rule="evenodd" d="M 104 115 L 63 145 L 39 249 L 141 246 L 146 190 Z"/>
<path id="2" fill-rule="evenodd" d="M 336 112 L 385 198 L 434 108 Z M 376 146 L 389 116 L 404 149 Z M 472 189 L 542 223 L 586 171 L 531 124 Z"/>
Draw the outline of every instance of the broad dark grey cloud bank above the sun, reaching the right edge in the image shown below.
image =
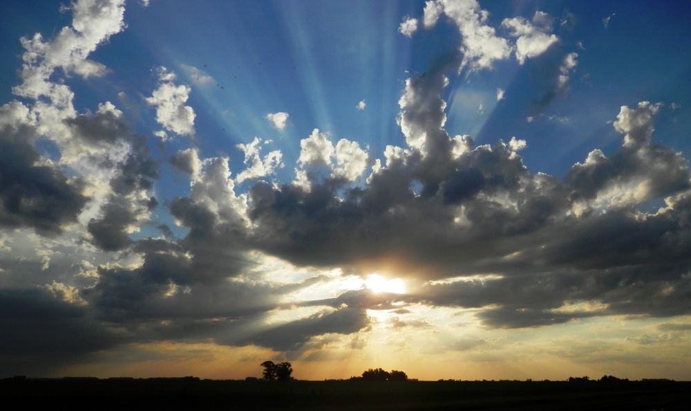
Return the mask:
<path id="1" fill-rule="evenodd" d="M 256 246 L 298 265 L 363 264 L 371 272 L 381 262 L 398 275 L 430 280 L 500 273 L 491 281 L 440 284 L 406 296 L 408 302 L 482 308 L 477 317 L 489 327 L 691 309 L 679 300 L 688 287 L 681 248 L 667 250 L 665 263 L 653 257 L 670 241 L 691 241 L 680 220 L 690 203 L 688 165 L 650 140 L 656 105 L 623 107 L 615 125 L 623 134 L 620 150 L 609 157 L 591 153 L 559 181 L 524 167 L 518 154 L 524 140 L 474 147 L 470 139 L 451 138 L 440 95 L 444 67 L 453 64 L 435 67 L 406 81 L 399 125 L 407 147 L 387 147 L 386 163 L 376 163 L 365 187 L 343 192 L 335 180 L 323 179 L 310 190 L 250 189 L 248 215 L 261 238 Z M 452 155 L 461 143 L 464 149 Z M 303 140 L 301 161 L 325 166 L 332 152 L 328 138 L 315 131 Z M 635 206 L 655 198 L 668 198 L 668 208 L 641 218 Z M 644 302 L 643 295 L 659 298 Z M 600 301 L 605 308 L 563 311 L 573 301 Z"/>

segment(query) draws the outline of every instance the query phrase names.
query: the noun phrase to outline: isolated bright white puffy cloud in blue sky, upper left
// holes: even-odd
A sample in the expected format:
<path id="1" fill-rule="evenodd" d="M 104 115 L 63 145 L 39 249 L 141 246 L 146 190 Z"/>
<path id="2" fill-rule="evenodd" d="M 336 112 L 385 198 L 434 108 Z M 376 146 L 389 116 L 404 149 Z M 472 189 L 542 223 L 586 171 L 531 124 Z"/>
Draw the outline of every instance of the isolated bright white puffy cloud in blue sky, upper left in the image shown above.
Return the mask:
<path id="1" fill-rule="evenodd" d="M 184 105 L 191 89 L 184 84 L 178 86 L 173 83 L 175 73 L 165 67 L 159 67 L 157 73 L 158 89 L 146 98 L 146 102 L 156 107 L 156 121 L 164 129 L 180 136 L 193 136 L 196 115 L 192 107 Z"/>

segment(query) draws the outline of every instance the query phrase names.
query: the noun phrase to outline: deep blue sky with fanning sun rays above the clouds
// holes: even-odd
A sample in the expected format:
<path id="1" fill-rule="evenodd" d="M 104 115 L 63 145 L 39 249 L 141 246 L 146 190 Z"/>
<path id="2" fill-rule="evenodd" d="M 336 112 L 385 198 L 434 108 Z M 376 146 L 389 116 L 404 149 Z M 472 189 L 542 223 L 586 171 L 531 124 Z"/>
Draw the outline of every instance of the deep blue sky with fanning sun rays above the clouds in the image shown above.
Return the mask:
<path id="1" fill-rule="evenodd" d="M 61 14 L 53 6 L 55 2 L 39 3 L 6 5 L 2 51 L 17 58 L 3 59 L 3 73 L 18 69 L 21 35 L 50 35 L 69 21 L 69 14 Z M 530 17 L 535 10 L 557 18 L 567 12 L 574 15 L 573 28 L 558 28 L 556 33 L 562 51 L 578 51 L 578 69 L 567 98 L 547 110 L 549 115 L 571 121 L 567 125 L 549 121 L 527 124 L 530 102 L 540 92 L 532 91 L 539 82 L 539 62 L 518 66 L 509 60 L 493 71 L 452 79 L 448 95 L 472 93 L 473 103 L 482 101 L 491 107 L 495 89 L 502 88 L 507 99 L 497 104 L 495 112 L 485 109 L 482 114 L 468 113 L 459 104 L 457 111 L 448 113 L 449 131 L 472 134 L 480 143 L 508 140 L 513 135 L 524 138 L 529 143 L 522 153 L 527 165 L 561 176 L 592 148 L 616 146 L 616 133 L 606 122 L 621 105 L 638 100 L 677 102 L 681 110 L 666 113 L 676 121 L 659 125 L 657 138 L 688 151 L 688 138 L 681 134 L 690 121 L 688 104 L 683 102 L 690 84 L 691 51 L 685 38 L 691 6 L 638 2 L 627 7 L 627 3 L 483 5 L 495 25 L 505 15 Z M 117 91 L 151 89 L 155 83 L 151 67 L 166 66 L 184 76 L 180 65 L 187 64 L 216 79 L 214 84 L 193 89 L 189 100 L 198 107 L 198 144 L 205 153 L 221 151 L 240 159 L 234 145 L 261 136 L 276 140 L 286 159 L 294 160 L 299 154 L 295 142 L 314 127 L 381 152 L 387 144 L 400 145 L 403 140 L 395 117 L 406 72 L 424 73 L 431 58 L 452 50 L 458 42 L 458 34 L 448 22 L 421 30 L 412 39 L 392 35 L 405 15 L 419 16 L 422 8 L 424 1 L 153 1 L 148 8 L 133 4 L 126 10 L 127 30 L 94 53 L 113 69 L 106 79 L 109 84 L 99 81 L 96 86 L 72 79 L 76 80 L 75 102 L 77 107 L 88 108 L 102 100 L 117 100 Z M 605 28 L 603 18 L 612 13 L 611 26 Z M 578 42 L 585 50 L 578 48 Z M 190 82 L 189 77 L 184 80 Z M 17 77 L 3 76 L 3 100 L 11 98 L 16 83 Z M 354 109 L 360 100 L 367 103 L 363 112 Z M 288 108 L 290 122 L 283 133 L 258 115 Z M 145 132 L 151 123 L 138 127 Z M 546 152 L 551 154 L 545 156 Z M 234 163 L 239 162 L 231 162 L 235 170 Z"/>

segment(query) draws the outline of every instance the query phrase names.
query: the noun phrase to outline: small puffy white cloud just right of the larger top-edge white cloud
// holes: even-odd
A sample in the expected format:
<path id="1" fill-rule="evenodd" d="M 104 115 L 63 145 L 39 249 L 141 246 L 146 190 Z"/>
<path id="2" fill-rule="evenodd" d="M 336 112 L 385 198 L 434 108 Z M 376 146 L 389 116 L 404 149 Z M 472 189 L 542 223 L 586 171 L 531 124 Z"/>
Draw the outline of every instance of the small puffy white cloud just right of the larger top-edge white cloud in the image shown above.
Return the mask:
<path id="1" fill-rule="evenodd" d="M 504 19 L 502 26 L 511 30 L 509 33 L 516 37 L 515 56 L 518 64 L 523 64 L 527 58 L 537 57 L 545 53 L 549 46 L 558 42 L 556 35 L 549 35 L 552 30 L 553 19 L 545 12 L 536 11 L 533 22 L 523 17 Z"/>

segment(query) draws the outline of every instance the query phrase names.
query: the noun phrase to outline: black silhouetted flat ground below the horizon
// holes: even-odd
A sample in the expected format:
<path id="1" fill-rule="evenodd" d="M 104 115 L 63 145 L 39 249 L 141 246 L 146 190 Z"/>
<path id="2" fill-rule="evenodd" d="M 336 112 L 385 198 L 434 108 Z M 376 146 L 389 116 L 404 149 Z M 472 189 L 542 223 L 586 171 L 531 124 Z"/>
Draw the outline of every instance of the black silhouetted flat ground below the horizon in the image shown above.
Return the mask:
<path id="1" fill-rule="evenodd" d="M 39 410 L 690 410 L 691 382 L 6 379 L 0 398 Z"/>

